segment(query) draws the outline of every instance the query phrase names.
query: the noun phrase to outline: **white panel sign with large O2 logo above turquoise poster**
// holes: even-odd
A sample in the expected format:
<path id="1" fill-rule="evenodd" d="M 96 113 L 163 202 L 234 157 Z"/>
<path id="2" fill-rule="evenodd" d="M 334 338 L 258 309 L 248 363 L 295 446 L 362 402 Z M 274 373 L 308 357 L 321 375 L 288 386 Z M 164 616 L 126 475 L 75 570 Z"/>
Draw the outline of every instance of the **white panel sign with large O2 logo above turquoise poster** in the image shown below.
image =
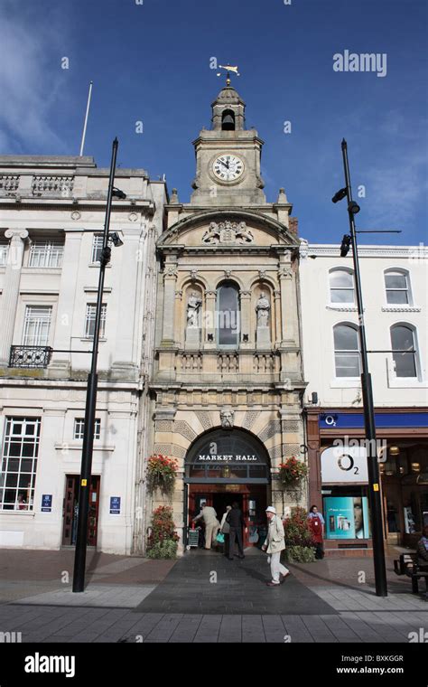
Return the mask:
<path id="1" fill-rule="evenodd" d="M 368 484 L 366 447 L 331 446 L 321 453 L 321 481 L 325 485 Z"/>

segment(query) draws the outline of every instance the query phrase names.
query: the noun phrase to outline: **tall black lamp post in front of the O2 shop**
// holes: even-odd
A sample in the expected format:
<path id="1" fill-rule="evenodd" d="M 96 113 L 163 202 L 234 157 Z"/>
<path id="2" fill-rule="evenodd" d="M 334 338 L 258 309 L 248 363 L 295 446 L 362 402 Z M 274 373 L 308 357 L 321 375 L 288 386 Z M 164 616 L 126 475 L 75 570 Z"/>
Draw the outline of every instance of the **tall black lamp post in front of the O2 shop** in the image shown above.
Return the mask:
<path id="1" fill-rule="evenodd" d="M 338 193 L 336 193 L 331 200 L 332 202 L 338 202 L 345 197 L 348 200 L 350 232 L 349 234 L 345 234 L 345 236 L 342 239 L 342 243 L 340 246 L 340 256 L 344 258 L 349 251 L 349 247 L 352 246 L 352 257 L 354 259 L 355 286 L 357 292 L 358 305 L 358 334 L 362 365 L 361 389 L 363 394 L 364 406 L 364 425 L 366 428 L 366 438 L 368 439 L 368 502 L 370 503 L 372 522 L 373 560 L 375 566 L 376 593 L 378 597 L 386 597 L 388 591 L 386 586 L 386 567 L 384 537 L 382 528 L 382 503 L 380 498 L 379 485 L 379 466 L 377 463 L 375 409 L 373 405 L 371 376 L 368 372 L 368 349 L 366 343 L 366 329 L 364 325 L 364 307 L 361 292 L 361 278 L 359 274 L 357 233 L 355 229 L 355 215 L 359 212 L 359 206 L 357 202 L 352 200 L 348 162 L 348 146 L 345 139 L 342 140 L 341 146 L 346 186 L 340 189 L 340 191 L 338 191 Z"/>

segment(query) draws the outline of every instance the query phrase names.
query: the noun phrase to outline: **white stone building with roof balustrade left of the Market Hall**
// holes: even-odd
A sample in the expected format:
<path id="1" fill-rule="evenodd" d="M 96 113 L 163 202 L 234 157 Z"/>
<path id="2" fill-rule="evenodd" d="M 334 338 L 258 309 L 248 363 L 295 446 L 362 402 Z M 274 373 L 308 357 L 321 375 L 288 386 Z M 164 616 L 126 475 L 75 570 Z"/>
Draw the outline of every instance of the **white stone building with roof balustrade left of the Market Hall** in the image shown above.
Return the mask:
<path id="1" fill-rule="evenodd" d="M 0 157 L 0 545 L 75 539 L 107 169 L 92 157 Z M 166 189 L 117 169 L 98 356 L 88 543 L 142 551 L 155 241 Z M 33 349 L 33 350 L 32 350 Z M 35 349 L 35 350 L 34 350 Z M 120 500 L 120 501 L 119 501 Z"/>

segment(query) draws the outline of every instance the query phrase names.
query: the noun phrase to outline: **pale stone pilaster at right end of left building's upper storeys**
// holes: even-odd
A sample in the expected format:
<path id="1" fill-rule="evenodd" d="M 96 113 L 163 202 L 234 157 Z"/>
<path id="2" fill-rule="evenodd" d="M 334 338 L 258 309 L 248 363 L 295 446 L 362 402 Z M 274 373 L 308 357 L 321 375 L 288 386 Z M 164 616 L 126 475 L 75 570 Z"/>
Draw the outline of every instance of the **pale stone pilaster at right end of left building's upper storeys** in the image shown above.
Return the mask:
<path id="1" fill-rule="evenodd" d="M 128 227 L 122 229 L 122 233 L 124 245 L 112 250 L 113 264 L 115 259 L 120 259 L 121 267 L 116 321 L 117 336 L 111 369 L 114 377 L 134 379 L 138 370 L 135 323 L 138 302 L 142 295 L 141 272 L 144 271 L 146 264 L 144 260 L 142 269 L 142 263 L 138 261 L 138 255 L 142 255 L 143 249 L 143 243 L 140 245 L 143 233 L 141 227 Z M 145 297 L 145 293 L 143 296 Z"/>

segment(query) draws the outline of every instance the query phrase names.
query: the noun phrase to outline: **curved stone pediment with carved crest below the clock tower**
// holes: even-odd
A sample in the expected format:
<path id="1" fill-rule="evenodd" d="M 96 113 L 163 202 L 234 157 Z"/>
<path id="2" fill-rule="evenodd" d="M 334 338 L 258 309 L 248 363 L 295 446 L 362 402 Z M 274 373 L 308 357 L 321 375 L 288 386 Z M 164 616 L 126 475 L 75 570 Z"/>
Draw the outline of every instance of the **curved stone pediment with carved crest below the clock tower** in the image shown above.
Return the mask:
<path id="1" fill-rule="evenodd" d="M 297 237 L 284 224 L 261 212 L 218 210 L 195 212 L 164 231 L 158 247 L 180 244 L 204 249 L 263 248 L 278 244 L 298 247 Z"/>

